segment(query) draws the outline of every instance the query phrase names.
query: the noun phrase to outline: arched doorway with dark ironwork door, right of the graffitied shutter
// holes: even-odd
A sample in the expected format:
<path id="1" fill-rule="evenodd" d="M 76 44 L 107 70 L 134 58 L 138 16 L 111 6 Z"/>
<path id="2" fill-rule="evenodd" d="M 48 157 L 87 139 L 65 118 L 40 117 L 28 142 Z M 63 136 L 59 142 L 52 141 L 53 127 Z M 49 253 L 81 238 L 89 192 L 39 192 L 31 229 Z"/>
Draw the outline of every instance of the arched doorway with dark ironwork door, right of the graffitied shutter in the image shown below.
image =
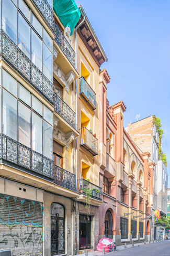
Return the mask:
<path id="1" fill-rule="evenodd" d="M 56 202 L 51 204 L 51 255 L 65 253 L 65 210 Z"/>

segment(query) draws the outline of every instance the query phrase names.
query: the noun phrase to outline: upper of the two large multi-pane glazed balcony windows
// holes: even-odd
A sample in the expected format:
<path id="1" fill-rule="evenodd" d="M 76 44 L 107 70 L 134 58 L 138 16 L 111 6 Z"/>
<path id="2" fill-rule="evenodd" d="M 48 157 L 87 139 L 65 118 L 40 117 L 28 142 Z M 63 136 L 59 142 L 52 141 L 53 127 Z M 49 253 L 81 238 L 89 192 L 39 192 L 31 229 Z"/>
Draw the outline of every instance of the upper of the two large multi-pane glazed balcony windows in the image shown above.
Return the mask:
<path id="1" fill-rule="evenodd" d="M 15 42 L 15 44 L 18 44 L 21 51 L 24 52 L 24 54 L 52 82 L 52 38 L 42 27 L 41 23 L 24 0 L 13 2 L 12 0 L 2 0 L 1 2 L 1 28 L 5 31 L 7 36 Z M 17 5 L 17 2 L 18 12 L 17 6 L 15 6 Z"/>

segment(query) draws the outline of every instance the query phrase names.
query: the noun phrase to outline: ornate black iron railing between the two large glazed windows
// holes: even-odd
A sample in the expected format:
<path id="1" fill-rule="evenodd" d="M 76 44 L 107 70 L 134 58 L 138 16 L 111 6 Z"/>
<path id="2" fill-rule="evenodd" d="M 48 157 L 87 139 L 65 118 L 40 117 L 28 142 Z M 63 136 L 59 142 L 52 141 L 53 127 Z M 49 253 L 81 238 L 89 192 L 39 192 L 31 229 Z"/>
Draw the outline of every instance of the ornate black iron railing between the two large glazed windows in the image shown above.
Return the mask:
<path id="1" fill-rule="evenodd" d="M 19 47 L 0 30 L 0 56 L 6 59 L 10 66 L 17 70 L 46 99 L 54 102 L 53 83 L 32 63 Z"/>

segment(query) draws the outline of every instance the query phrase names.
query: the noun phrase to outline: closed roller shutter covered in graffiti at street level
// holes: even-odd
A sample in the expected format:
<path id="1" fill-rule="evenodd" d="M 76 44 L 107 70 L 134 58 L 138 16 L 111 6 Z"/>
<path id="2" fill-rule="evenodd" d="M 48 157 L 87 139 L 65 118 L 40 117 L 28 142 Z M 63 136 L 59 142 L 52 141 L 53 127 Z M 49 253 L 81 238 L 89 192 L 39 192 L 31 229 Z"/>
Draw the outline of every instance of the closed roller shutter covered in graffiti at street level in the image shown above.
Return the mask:
<path id="1" fill-rule="evenodd" d="M 0 194 L 0 250 L 43 255 L 42 203 Z"/>

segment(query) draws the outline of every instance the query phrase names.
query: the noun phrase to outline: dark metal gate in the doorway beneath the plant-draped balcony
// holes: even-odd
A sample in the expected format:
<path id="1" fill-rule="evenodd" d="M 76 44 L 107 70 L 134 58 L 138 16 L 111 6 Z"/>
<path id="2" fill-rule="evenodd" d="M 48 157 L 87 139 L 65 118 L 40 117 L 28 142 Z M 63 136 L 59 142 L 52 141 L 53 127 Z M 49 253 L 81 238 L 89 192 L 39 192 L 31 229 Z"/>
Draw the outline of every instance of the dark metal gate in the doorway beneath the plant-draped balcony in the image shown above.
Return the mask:
<path id="1" fill-rule="evenodd" d="M 91 219 L 87 215 L 80 215 L 80 250 L 92 248 L 91 243 Z"/>

